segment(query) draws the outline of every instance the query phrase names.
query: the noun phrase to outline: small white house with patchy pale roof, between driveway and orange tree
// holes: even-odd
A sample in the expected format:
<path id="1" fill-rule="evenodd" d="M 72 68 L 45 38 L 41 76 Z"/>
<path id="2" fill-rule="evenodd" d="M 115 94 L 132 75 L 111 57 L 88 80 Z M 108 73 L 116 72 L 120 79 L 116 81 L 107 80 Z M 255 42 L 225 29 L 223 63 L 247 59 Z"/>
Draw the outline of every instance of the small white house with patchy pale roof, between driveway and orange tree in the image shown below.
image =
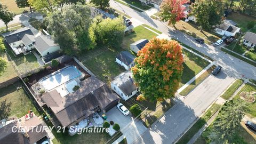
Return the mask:
<path id="1" fill-rule="evenodd" d="M 132 79 L 132 72 L 128 70 L 114 78 L 111 82 L 111 89 L 124 100 L 130 99 L 139 91 Z"/>

